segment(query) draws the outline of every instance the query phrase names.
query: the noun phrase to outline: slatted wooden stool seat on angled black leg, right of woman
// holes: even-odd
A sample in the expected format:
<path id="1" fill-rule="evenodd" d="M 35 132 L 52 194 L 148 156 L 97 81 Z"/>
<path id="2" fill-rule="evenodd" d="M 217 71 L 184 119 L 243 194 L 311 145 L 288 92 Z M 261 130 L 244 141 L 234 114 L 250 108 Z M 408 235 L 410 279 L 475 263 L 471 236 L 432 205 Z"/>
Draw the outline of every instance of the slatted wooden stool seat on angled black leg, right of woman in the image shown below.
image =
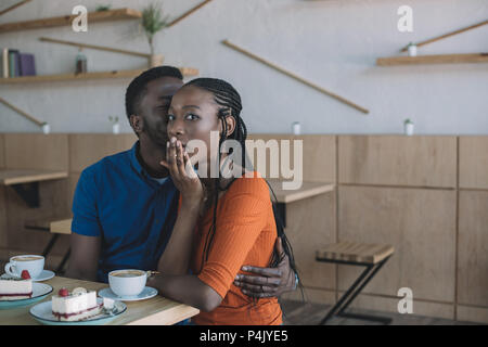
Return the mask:
<path id="1" fill-rule="evenodd" d="M 391 245 L 342 241 L 317 250 L 316 259 L 319 261 L 377 264 L 394 252 L 395 248 Z"/>

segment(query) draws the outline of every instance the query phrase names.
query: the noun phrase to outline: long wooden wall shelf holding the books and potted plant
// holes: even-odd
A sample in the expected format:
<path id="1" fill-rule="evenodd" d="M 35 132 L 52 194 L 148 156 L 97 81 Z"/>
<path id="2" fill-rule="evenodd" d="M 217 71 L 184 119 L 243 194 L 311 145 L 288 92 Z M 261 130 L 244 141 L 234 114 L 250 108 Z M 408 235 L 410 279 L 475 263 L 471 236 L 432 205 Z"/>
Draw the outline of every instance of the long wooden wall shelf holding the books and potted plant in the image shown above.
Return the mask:
<path id="1" fill-rule="evenodd" d="M 11 78 L 0 78 L 0 85 L 107 79 L 107 78 L 133 78 L 133 77 L 142 74 L 144 70 L 146 70 L 146 69 L 144 69 L 144 68 L 123 69 L 123 70 L 100 72 L 100 73 L 86 73 L 86 74 L 78 74 L 78 75 L 76 75 L 76 74 L 60 74 L 60 75 L 11 77 Z M 193 68 L 193 67 L 180 67 L 180 70 L 181 70 L 181 74 L 183 74 L 183 76 L 198 75 L 198 69 Z"/>

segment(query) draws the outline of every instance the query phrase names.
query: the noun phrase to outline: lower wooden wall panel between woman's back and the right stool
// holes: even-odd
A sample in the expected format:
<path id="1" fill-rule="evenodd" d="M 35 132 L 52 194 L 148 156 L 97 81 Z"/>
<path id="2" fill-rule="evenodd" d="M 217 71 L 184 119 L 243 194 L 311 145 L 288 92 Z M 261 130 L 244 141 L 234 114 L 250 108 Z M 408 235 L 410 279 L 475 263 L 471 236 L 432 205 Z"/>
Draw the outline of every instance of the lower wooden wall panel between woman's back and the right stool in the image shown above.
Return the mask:
<path id="1" fill-rule="evenodd" d="M 286 204 L 288 237 L 301 283 L 335 288 L 335 265 L 316 261 L 316 249 L 335 242 L 335 191 Z"/>

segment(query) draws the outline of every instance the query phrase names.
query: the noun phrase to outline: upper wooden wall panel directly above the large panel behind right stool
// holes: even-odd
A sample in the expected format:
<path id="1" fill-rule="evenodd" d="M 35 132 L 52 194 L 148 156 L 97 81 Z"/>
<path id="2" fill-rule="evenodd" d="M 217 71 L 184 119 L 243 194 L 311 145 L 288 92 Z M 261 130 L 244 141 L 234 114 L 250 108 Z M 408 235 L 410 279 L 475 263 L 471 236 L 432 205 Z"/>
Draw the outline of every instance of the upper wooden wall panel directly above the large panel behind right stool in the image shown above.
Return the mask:
<path id="1" fill-rule="evenodd" d="M 339 183 L 455 188 L 455 137 L 339 136 Z"/>

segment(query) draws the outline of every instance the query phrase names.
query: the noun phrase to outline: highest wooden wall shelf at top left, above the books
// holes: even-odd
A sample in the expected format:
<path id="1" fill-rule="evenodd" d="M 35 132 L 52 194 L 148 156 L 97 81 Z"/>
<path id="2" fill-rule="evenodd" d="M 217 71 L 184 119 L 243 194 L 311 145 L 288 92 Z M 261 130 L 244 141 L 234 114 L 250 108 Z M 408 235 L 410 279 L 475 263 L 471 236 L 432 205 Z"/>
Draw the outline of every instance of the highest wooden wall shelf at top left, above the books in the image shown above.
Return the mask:
<path id="1" fill-rule="evenodd" d="M 70 26 L 74 18 L 78 15 L 64 15 L 59 17 L 25 21 L 25 22 L 13 22 L 0 25 L 0 34 L 21 31 L 28 29 L 42 29 L 52 28 L 59 26 Z M 99 22 L 112 22 L 120 20 L 138 20 L 142 16 L 142 13 L 132 9 L 117 9 L 108 11 L 89 12 L 88 23 L 99 23 Z"/>

